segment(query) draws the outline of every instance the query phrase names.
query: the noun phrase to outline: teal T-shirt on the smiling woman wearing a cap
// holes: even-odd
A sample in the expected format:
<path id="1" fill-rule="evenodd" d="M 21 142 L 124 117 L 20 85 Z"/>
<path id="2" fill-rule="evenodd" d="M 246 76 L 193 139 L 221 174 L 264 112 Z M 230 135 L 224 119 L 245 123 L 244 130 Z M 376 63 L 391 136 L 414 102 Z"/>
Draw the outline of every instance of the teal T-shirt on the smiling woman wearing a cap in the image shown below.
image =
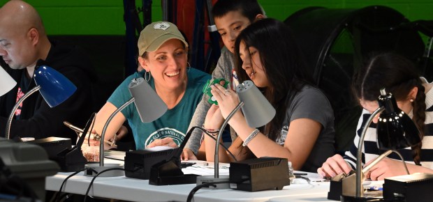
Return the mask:
<path id="1" fill-rule="evenodd" d="M 114 104 L 117 108 L 122 106 L 131 99 L 131 93 L 129 93 L 128 89 L 131 80 L 143 77 L 144 74 L 145 70 L 142 70 L 127 77 L 108 98 L 108 102 Z M 131 126 L 136 148 L 143 149 L 155 139 L 165 137 L 173 138 L 177 146 L 179 146 L 184 140 L 197 104 L 202 99 L 202 89 L 208 79 L 210 79 L 210 75 L 207 73 L 191 68 L 188 72 L 188 84 L 182 100 L 173 109 L 168 109 L 166 114 L 151 123 L 141 122 L 135 104 L 129 104 L 128 107 L 123 109 L 121 112 Z M 149 84 L 155 89 L 153 78 L 149 80 Z"/>

